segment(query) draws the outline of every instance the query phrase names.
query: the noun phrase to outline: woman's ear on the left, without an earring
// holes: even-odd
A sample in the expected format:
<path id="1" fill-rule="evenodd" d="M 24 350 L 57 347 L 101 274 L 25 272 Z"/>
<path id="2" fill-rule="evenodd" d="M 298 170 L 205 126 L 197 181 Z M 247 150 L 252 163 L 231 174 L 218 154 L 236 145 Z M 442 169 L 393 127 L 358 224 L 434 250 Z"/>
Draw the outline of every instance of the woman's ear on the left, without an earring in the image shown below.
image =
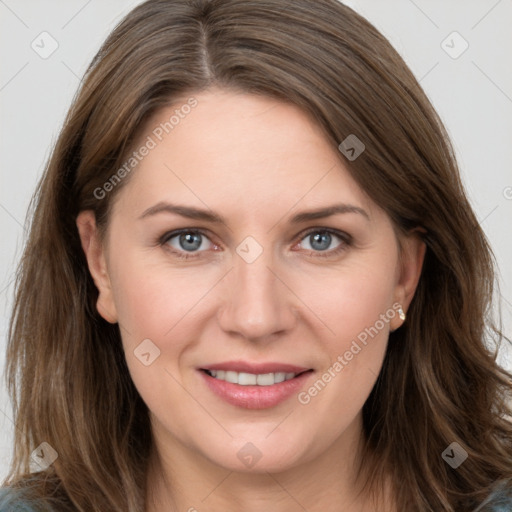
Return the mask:
<path id="1" fill-rule="evenodd" d="M 94 212 L 92 210 L 80 212 L 76 218 L 76 225 L 89 272 L 99 292 L 96 302 L 98 313 L 107 322 L 114 324 L 117 322 L 117 311 L 107 270 L 105 248 L 96 226 Z"/>

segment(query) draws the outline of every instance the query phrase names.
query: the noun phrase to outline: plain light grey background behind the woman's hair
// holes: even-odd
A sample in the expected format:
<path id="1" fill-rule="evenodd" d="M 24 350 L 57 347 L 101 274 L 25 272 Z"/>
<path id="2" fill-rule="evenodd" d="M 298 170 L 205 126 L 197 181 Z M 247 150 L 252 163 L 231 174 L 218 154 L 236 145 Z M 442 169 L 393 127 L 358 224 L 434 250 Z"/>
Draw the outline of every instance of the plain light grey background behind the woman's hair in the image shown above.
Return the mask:
<path id="1" fill-rule="evenodd" d="M 138 3 L 0 0 L 0 370 L 12 304 L 13 271 L 25 239 L 23 224 L 31 194 L 87 65 L 106 35 Z M 346 3 L 393 43 L 448 128 L 470 199 L 500 267 L 504 330 L 510 336 L 512 2 Z M 54 53 L 47 58 L 40 56 L 46 57 L 44 52 L 55 44 L 58 47 Z M 468 48 L 461 53 L 466 45 Z M 508 352 L 501 353 L 500 361 L 512 370 Z M 11 456 L 15 428 L 11 418 L 2 381 L 0 478 L 6 475 Z"/>

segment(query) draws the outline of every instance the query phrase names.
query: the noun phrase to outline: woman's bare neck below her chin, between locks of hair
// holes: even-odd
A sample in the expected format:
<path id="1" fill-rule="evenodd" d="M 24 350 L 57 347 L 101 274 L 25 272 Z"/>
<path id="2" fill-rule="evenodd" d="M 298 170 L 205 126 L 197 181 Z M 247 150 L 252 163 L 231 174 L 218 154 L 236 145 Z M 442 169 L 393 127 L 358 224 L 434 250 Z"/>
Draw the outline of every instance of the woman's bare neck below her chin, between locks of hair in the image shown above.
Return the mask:
<path id="1" fill-rule="evenodd" d="M 355 479 L 362 418 L 329 449 L 286 471 L 222 468 L 171 436 L 153 429 L 146 512 L 374 512 Z M 379 512 L 392 510 L 379 503 Z"/>

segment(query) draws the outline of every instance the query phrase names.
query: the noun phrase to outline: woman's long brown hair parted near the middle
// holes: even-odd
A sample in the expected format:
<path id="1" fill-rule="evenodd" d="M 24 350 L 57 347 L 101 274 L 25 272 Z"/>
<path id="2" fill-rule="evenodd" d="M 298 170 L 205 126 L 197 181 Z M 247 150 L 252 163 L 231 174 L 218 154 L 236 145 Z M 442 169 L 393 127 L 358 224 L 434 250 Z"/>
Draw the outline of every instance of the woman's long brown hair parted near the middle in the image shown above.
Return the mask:
<path id="1" fill-rule="evenodd" d="M 443 125 L 389 42 L 336 0 L 149 0 L 105 41 L 39 184 L 7 351 L 15 443 L 5 484 L 57 510 L 141 512 L 151 434 L 119 327 L 97 290 L 75 219 L 100 226 L 129 179 L 98 198 L 157 109 L 213 85 L 291 102 L 338 146 L 398 230 L 423 228 L 426 259 L 363 408 L 360 478 L 391 475 L 398 510 L 469 511 L 512 480 L 512 375 L 498 366 L 494 260 Z M 135 171 L 136 172 L 136 171 Z M 103 194 L 102 194 L 103 195 Z M 493 349 L 494 347 L 494 349 Z M 47 442 L 58 458 L 29 474 Z M 456 470 L 442 452 L 468 453 Z"/>

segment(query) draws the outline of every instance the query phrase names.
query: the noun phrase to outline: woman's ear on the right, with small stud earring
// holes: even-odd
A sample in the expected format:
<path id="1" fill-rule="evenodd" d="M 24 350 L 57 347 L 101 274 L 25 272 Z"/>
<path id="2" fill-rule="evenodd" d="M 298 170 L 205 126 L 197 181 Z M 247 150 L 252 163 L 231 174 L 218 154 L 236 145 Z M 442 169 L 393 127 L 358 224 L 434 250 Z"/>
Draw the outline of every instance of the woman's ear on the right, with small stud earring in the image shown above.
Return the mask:
<path id="1" fill-rule="evenodd" d="M 427 246 L 421 233 L 426 231 L 423 228 L 415 228 L 400 239 L 399 275 L 394 299 L 395 303 L 402 306 L 404 313 L 407 313 L 414 297 L 425 259 Z M 395 315 L 390 321 L 391 330 L 398 329 L 403 322 L 398 314 Z"/>

